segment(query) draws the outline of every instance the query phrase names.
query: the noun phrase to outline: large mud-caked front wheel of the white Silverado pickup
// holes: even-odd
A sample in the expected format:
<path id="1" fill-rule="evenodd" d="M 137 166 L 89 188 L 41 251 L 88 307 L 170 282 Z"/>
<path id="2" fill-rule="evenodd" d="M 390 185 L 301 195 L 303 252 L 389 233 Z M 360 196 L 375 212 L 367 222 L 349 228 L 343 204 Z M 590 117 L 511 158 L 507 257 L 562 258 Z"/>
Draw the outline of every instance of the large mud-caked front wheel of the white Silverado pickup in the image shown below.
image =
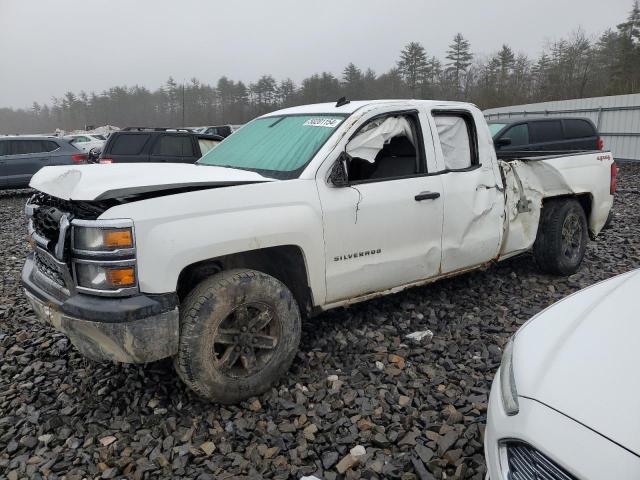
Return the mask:
<path id="1" fill-rule="evenodd" d="M 175 369 L 198 395 L 236 403 L 289 369 L 300 328 L 298 304 L 282 282 L 255 270 L 218 273 L 181 305 Z"/>

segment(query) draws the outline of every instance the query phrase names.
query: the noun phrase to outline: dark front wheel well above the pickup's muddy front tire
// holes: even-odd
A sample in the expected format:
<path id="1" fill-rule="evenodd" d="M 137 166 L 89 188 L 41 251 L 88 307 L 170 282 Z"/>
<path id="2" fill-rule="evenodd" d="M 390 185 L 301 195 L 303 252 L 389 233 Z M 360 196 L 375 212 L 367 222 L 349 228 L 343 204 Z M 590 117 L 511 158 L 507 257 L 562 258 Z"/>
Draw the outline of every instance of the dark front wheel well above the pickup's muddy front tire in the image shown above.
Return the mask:
<path id="1" fill-rule="evenodd" d="M 250 268 L 271 275 L 291 290 L 301 314 L 307 315 L 313 308 L 304 255 L 296 245 L 249 250 L 193 263 L 178 277 L 176 290 L 180 301 L 205 278 L 233 268 Z"/>

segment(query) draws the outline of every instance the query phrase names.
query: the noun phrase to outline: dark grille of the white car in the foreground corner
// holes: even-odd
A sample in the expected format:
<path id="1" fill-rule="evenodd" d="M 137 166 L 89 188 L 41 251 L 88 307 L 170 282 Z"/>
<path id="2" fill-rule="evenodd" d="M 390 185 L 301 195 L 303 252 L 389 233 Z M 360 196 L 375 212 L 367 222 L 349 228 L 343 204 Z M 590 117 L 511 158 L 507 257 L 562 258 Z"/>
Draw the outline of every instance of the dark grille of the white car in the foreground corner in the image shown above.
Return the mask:
<path id="1" fill-rule="evenodd" d="M 508 480 L 577 480 L 535 448 L 524 443 L 507 444 Z"/>

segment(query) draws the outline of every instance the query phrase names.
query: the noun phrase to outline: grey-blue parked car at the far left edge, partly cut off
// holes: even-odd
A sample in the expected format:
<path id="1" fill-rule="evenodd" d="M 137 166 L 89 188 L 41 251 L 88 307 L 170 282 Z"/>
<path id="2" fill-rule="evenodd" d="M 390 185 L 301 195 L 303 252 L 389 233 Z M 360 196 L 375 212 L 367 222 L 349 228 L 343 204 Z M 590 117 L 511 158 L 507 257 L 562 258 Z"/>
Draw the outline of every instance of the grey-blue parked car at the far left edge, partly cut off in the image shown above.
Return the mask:
<path id="1" fill-rule="evenodd" d="M 56 137 L 0 137 L 0 188 L 24 188 L 51 165 L 85 163 L 87 154 Z"/>

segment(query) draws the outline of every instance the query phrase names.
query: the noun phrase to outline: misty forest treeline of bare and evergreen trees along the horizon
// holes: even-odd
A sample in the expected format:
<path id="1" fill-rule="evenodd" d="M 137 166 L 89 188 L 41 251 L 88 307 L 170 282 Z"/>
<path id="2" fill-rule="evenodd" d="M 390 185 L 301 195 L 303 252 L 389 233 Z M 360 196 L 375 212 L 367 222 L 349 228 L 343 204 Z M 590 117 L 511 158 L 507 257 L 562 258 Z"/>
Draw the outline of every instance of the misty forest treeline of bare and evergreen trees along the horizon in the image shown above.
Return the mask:
<path id="1" fill-rule="evenodd" d="M 246 84 L 221 77 L 215 84 L 169 78 L 149 90 L 140 85 L 97 93 L 67 92 L 49 105 L 0 108 L 0 133 L 52 132 L 85 125 L 196 126 L 244 123 L 282 107 L 349 99 L 434 98 L 465 100 L 481 108 L 640 92 L 640 6 L 627 19 L 591 37 L 577 30 L 550 43 L 536 59 L 504 44 L 480 56 L 460 33 L 445 58 L 418 42 L 400 52 L 384 73 L 350 63 L 340 75 L 316 73 L 296 85 L 263 75 Z M 184 123 L 183 123 L 184 119 Z"/>

